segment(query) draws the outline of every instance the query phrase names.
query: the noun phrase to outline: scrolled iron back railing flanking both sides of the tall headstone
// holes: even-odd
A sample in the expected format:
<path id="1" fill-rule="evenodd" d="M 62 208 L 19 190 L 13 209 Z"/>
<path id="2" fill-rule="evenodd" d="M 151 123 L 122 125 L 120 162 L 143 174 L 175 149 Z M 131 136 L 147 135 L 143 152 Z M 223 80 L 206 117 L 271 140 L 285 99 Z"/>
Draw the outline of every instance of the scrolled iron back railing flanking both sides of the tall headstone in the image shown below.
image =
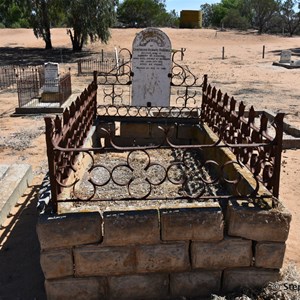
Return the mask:
<path id="1" fill-rule="evenodd" d="M 201 105 L 204 78 L 199 82 L 199 78 L 187 66 L 177 62 L 182 61 L 184 52 L 185 49 L 182 48 L 172 53 L 172 69 L 169 74 L 170 101 L 174 106 L 197 107 Z M 94 66 L 94 81 L 99 85 L 99 93 L 103 94 L 104 103 L 130 105 L 132 80 L 134 80 L 132 53 L 124 48 L 119 51 L 118 56 L 123 57 L 122 61 L 107 73 L 97 71 L 97 67 Z"/>

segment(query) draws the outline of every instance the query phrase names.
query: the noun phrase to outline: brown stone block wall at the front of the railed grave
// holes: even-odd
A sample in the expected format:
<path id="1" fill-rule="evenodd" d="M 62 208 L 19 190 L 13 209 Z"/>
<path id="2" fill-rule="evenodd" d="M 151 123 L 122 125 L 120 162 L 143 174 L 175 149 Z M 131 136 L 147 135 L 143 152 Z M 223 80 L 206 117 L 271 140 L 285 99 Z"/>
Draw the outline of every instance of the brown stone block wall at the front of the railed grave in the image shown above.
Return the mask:
<path id="1" fill-rule="evenodd" d="M 178 299 L 279 278 L 291 215 L 243 202 L 40 216 L 48 300 Z"/>

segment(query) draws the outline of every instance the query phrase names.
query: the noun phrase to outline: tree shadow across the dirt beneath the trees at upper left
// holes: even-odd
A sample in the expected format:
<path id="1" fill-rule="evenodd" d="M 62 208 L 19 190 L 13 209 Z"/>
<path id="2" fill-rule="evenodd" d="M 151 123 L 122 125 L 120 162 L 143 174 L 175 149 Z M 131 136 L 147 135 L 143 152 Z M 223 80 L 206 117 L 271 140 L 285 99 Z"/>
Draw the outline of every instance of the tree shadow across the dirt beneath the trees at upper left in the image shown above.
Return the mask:
<path id="1" fill-rule="evenodd" d="M 73 52 L 67 48 L 45 50 L 41 48 L 0 47 L 0 66 L 42 65 L 45 62 L 74 63 L 92 56 L 91 51 Z"/>

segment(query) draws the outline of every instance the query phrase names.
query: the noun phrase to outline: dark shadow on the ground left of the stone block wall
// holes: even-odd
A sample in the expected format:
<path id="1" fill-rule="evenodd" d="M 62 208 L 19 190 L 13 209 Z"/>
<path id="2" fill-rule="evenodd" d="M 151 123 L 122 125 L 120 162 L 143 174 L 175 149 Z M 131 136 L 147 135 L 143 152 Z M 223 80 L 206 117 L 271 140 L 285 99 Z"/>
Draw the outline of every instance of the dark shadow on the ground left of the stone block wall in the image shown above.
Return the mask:
<path id="1" fill-rule="evenodd" d="M 28 188 L 24 203 L 0 236 L 0 299 L 46 299 L 36 234 L 38 186 Z"/>

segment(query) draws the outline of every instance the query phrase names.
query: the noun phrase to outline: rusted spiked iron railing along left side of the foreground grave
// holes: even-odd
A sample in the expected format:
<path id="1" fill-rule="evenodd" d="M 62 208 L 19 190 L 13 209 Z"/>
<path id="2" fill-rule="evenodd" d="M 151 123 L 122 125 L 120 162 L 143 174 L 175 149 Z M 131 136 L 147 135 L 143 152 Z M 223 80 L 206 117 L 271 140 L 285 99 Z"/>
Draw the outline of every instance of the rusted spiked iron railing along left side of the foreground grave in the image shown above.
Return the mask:
<path id="1" fill-rule="evenodd" d="M 54 207 L 62 189 L 57 180 L 61 183 L 67 181 L 79 154 L 78 151 L 65 152 L 65 149 L 80 149 L 84 144 L 96 119 L 96 107 L 97 85 L 91 83 L 70 108 L 64 110 L 62 117 L 45 118 L 51 201 Z"/>

